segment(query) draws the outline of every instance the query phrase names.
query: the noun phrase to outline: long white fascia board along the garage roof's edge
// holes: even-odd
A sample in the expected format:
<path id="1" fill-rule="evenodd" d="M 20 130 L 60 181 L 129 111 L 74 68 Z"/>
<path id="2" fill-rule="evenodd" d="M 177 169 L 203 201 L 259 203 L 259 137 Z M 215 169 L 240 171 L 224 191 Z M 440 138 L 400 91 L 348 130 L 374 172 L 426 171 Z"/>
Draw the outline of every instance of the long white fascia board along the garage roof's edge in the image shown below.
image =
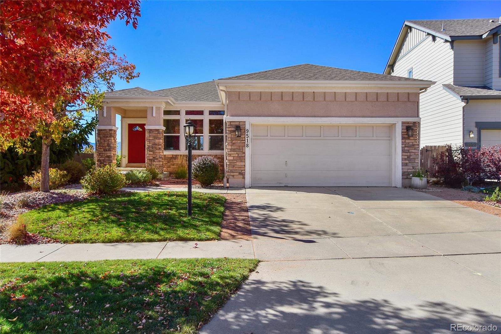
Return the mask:
<path id="1" fill-rule="evenodd" d="M 338 86 L 338 87 L 415 87 L 429 88 L 434 81 L 376 81 L 376 80 L 215 80 L 222 89 L 231 86 Z"/>

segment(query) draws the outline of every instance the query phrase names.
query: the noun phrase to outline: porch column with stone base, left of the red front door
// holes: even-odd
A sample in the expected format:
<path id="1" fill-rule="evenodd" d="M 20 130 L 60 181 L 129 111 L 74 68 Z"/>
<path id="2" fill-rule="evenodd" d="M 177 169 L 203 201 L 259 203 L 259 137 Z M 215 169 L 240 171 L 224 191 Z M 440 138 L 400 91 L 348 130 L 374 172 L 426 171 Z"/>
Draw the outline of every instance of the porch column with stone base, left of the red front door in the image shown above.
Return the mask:
<path id="1" fill-rule="evenodd" d="M 117 151 L 117 130 L 115 115 L 111 107 L 99 111 L 99 125 L 96 126 L 96 166 L 115 164 Z"/>

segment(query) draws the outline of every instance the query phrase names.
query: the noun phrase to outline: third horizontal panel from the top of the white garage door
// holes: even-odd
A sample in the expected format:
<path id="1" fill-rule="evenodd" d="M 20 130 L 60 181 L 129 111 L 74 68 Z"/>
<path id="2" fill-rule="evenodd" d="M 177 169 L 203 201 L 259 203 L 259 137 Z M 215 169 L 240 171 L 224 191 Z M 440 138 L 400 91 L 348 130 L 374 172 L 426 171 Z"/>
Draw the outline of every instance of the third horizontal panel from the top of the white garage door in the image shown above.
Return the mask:
<path id="1" fill-rule="evenodd" d="M 310 155 L 256 154 L 251 163 L 253 171 L 389 171 L 391 169 L 388 155 L 374 155 L 370 162 L 367 156 L 353 155 L 319 155 L 315 163 Z"/>

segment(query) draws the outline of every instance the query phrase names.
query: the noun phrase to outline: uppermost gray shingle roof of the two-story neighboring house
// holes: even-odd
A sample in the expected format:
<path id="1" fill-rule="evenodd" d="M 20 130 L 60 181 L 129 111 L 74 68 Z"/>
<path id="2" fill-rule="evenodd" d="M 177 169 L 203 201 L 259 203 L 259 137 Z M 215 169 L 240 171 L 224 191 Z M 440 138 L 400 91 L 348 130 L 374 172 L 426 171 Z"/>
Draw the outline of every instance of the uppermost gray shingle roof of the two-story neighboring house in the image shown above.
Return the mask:
<path id="1" fill-rule="evenodd" d="M 490 22 L 490 21 L 494 22 Z M 489 30 L 501 27 L 497 19 L 463 19 L 463 20 L 407 20 L 406 22 L 427 28 L 447 36 L 479 36 Z M 445 31 L 442 30 L 442 23 Z"/>

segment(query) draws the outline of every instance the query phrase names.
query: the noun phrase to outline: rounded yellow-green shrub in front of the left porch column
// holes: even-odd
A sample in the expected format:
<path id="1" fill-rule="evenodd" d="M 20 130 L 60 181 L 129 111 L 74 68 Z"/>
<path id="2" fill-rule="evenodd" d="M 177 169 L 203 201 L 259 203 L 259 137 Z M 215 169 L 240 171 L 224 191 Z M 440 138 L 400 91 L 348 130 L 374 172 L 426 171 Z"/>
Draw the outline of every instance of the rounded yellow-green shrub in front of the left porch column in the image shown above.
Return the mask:
<path id="1" fill-rule="evenodd" d="M 82 178 L 82 188 L 89 194 L 110 194 L 125 186 L 125 177 L 114 165 L 93 168 Z"/>

